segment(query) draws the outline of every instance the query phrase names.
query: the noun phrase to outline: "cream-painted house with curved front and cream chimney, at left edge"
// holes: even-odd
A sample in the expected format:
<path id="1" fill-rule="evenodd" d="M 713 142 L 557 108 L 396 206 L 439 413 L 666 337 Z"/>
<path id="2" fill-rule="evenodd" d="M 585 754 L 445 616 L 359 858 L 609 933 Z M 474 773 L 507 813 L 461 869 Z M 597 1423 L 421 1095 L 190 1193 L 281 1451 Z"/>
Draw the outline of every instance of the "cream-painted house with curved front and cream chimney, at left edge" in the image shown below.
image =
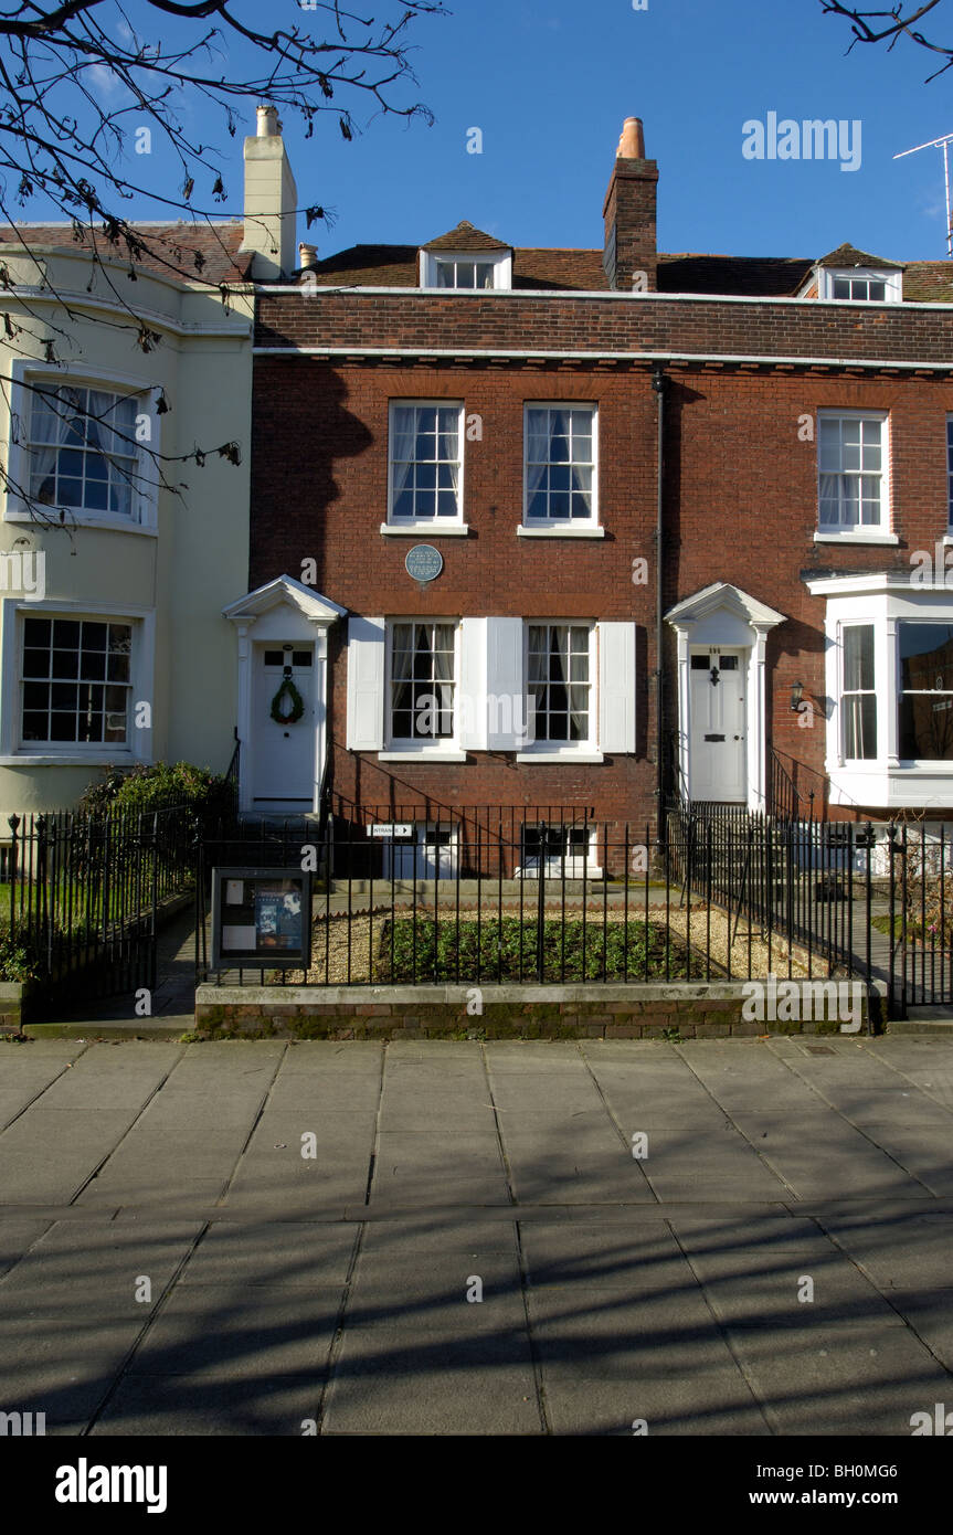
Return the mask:
<path id="1" fill-rule="evenodd" d="M 229 768 L 223 608 L 247 589 L 253 279 L 293 264 L 293 209 L 276 115 L 259 109 L 246 221 L 147 226 L 160 255 L 135 281 L 129 256 L 97 236 L 94 262 L 68 224 L 0 233 L 3 307 L 23 327 L 0 367 L 0 835 L 12 812 L 72 806 L 109 764 Z M 196 247 L 192 282 L 172 269 Z M 238 464 L 209 451 L 229 442 Z M 173 462 L 196 448 L 203 467 Z"/>

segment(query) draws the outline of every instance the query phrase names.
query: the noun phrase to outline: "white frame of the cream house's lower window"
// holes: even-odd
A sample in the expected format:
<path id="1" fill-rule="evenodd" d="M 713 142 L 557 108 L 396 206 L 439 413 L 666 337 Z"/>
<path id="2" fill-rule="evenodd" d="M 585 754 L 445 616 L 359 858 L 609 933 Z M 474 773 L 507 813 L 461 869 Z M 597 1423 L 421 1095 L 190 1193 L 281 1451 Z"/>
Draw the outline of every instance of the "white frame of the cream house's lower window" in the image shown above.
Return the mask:
<path id="1" fill-rule="evenodd" d="M 155 729 L 155 609 L 114 603 L 46 599 L 45 602 L 5 600 L 2 605 L 3 683 L 0 703 L 0 766 L 132 766 L 152 761 Z M 129 735 L 117 741 L 25 741 L 23 740 L 23 637 L 25 619 L 91 619 L 129 623 L 132 657 L 129 666 Z M 135 705 L 150 701 L 152 728 L 137 728 Z"/>

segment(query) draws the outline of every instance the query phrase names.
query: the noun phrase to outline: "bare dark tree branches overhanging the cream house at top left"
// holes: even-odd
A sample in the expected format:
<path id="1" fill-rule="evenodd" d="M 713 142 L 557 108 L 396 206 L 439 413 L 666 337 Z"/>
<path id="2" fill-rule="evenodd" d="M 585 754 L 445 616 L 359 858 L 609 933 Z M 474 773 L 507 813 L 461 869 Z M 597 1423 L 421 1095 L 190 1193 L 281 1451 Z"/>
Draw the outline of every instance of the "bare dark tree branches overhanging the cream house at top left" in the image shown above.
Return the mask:
<path id="1" fill-rule="evenodd" d="M 68 221 L 71 241 L 89 259 L 87 292 L 95 287 L 101 295 L 104 287 L 115 307 L 114 316 L 98 315 L 95 324 L 129 332 L 130 344 L 144 352 L 161 344 L 137 312 L 130 287 L 144 267 L 206 286 L 227 307 L 221 276 L 227 262 L 207 270 L 206 252 L 213 243 L 230 259 L 223 224 L 244 218 L 244 210 L 229 213 L 219 154 L 189 126 L 196 104 L 213 109 L 229 138 L 261 100 L 296 115 L 307 138 L 322 114 L 336 118 L 345 140 L 370 115 L 433 121 L 407 91 L 417 86 L 408 29 L 424 15 L 445 15 L 439 0 L 382 0 L 376 15 L 347 9 L 341 0 L 282 5 L 296 8 L 301 21 L 264 31 L 261 15 L 275 12 L 262 12 L 258 0 L 143 0 L 155 23 L 153 37 L 144 38 L 123 0 L 0 0 L 0 226 L 15 232 L 6 250 L 0 244 L 0 305 L 5 296 L 9 302 L 9 312 L 0 307 L 0 327 L 8 353 L 21 350 L 66 368 L 77 350 L 77 319 L 91 321 L 80 295 L 51 286 L 49 262 L 37 250 L 43 238 L 21 223 L 26 218 Z M 172 150 L 178 186 L 147 184 L 149 161 L 130 152 L 130 135 L 143 129 Z M 138 198 L 167 209 L 181 227 L 135 223 L 126 209 Z M 45 216 L 37 220 L 37 212 Z M 333 223 L 325 204 L 298 212 L 308 229 L 318 220 Z M 192 230 L 203 232 L 201 243 Z M 26 287 L 8 264 L 23 253 L 37 275 Z M 117 261 L 126 275 L 117 272 Z M 0 378 L 5 396 L 9 384 Z M 152 484 L 178 494 L 181 487 L 163 474 L 163 462 L 173 460 L 143 451 L 158 476 Z M 236 451 L 233 442 L 196 444 L 184 457 L 203 464 L 219 454 L 236 462 Z M 34 505 L 29 487 L 14 485 L 3 462 L 0 488 Z M 38 520 L 52 520 L 49 508 L 34 510 Z M 58 513 L 55 522 L 64 525 Z"/>

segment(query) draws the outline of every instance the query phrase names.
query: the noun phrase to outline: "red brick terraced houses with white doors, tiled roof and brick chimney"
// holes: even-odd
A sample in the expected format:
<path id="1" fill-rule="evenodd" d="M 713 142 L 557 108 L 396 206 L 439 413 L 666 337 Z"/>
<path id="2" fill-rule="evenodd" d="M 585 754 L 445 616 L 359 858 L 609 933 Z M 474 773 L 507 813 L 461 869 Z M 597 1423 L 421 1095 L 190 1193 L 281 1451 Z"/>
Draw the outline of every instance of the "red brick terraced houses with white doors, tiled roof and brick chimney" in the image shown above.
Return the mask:
<path id="1" fill-rule="evenodd" d="M 953 266 L 663 253 L 657 184 L 629 118 L 599 249 L 463 221 L 259 286 L 246 809 L 331 783 L 433 873 L 454 806 L 526 852 L 586 807 L 595 867 L 672 794 L 953 803 Z"/>

